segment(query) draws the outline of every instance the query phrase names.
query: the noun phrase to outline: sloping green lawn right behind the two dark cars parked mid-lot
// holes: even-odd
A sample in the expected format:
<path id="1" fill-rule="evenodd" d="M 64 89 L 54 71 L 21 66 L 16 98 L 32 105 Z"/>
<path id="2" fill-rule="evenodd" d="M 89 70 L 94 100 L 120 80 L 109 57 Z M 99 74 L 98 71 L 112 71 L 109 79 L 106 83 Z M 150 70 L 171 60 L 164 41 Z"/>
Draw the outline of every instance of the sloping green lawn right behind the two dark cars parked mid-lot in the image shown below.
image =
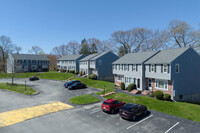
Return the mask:
<path id="1" fill-rule="evenodd" d="M 115 91 L 115 87 L 113 87 L 115 84 L 112 82 L 107 82 L 107 81 L 101 81 L 101 80 L 92 80 L 88 78 L 73 78 L 73 80 L 80 80 L 82 83 L 86 84 L 89 87 L 93 88 L 99 88 L 99 89 L 104 89 L 105 86 L 105 93 Z M 104 91 L 100 91 L 95 93 L 96 95 L 101 95 L 103 94 Z"/>

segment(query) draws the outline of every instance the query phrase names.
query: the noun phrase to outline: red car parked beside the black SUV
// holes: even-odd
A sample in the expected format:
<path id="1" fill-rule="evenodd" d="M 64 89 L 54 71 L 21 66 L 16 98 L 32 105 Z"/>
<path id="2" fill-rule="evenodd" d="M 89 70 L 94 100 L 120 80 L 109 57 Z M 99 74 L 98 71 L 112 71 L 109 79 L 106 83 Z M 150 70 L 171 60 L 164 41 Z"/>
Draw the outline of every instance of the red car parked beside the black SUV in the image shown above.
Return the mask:
<path id="1" fill-rule="evenodd" d="M 124 104 L 126 103 L 122 101 L 108 99 L 102 103 L 101 109 L 105 112 L 110 112 L 113 114 L 116 110 L 119 110 Z"/>

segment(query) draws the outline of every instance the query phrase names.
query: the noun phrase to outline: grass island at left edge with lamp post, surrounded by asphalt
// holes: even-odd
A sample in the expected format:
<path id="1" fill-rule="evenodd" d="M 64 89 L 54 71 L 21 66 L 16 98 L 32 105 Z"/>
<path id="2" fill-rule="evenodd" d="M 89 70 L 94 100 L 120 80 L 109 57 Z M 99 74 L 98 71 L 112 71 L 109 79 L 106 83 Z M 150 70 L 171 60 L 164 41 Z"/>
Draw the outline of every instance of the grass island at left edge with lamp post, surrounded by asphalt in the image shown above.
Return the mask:
<path id="1" fill-rule="evenodd" d="M 29 86 L 26 86 L 26 90 L 25 90 L 25 85 L 21 85 L 21 84 L 16 84 L 12 86 L 12 85 L 8 85 L 7 83 L 0 83 L 0 89 L 14 91 L 14 92 L 22 93 L 22 94 L 27 94 L 27 95 L 34 95 L 38 93 L 36 90 L 34 90 L 33 88 Z"/>

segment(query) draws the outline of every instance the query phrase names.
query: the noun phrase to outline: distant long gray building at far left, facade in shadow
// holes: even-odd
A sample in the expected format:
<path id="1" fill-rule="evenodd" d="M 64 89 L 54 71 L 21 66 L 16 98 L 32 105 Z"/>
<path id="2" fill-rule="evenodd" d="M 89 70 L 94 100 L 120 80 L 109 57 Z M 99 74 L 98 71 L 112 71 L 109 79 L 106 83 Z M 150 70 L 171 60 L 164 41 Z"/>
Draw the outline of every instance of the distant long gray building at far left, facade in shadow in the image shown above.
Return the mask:
<path id="1" fill-rule="evenodd" d="M 10 54 L 7 73 L 49 71 L 50 61 L 45 55 Z"/>

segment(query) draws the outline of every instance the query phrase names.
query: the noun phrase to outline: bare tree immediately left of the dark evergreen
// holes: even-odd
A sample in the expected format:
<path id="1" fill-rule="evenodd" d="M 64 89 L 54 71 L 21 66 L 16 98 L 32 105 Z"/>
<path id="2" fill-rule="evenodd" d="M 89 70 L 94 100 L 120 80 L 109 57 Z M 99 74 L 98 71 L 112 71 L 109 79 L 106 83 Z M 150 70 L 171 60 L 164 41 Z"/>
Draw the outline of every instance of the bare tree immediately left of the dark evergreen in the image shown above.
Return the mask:
<path id="1" fill-rule="evenodd" d="M 67 44 L 67 48 L 68 48 L 69 54 L 76 55 L 80 51 L 79 50 L 80 49 L 80 43 L 78 43 L 77 41 L 70 41 Z"/>

